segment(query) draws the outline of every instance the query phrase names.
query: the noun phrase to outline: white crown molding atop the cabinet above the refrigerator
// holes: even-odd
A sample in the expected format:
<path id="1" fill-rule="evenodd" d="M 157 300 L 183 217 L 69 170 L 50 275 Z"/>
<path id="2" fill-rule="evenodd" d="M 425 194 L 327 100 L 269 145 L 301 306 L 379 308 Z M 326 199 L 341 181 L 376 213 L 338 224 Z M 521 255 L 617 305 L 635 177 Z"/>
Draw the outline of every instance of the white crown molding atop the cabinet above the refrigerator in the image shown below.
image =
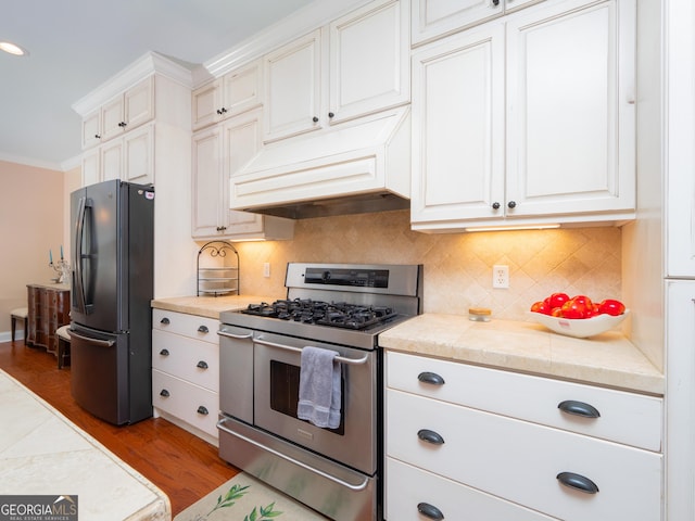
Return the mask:
<path id="1" fill-rule="evenodd" d="M 166 76 L 189 89 L 192 87 L 192 75 L 189 68 L 150 51 L 71 106 L 77 114 L 85 117 L 106 101 L 153 74 Z"/>

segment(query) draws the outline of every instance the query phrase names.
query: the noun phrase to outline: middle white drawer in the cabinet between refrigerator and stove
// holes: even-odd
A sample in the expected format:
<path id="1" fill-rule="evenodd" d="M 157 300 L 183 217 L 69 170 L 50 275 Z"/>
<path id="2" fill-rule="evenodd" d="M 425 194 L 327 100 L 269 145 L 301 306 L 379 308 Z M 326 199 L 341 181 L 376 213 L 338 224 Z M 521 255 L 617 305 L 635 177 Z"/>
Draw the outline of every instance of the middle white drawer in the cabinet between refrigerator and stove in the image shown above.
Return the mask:
<path id="1" fill-rule="evenodd" d="M 219 345 L 152 331 L 152 367 L 197 385 L 219 390 Z"/>

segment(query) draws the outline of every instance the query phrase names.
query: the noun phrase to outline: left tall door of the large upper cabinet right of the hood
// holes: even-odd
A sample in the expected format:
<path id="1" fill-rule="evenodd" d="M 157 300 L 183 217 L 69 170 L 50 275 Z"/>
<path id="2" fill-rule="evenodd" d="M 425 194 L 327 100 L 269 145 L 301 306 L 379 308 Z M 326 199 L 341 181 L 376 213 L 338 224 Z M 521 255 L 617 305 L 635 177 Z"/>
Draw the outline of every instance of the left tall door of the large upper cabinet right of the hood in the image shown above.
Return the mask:
<path id="1" fill-rule="evenodd" d="M 413 223 L 501 218 L 503 157 L 504 24 L 415 53 Z"/>

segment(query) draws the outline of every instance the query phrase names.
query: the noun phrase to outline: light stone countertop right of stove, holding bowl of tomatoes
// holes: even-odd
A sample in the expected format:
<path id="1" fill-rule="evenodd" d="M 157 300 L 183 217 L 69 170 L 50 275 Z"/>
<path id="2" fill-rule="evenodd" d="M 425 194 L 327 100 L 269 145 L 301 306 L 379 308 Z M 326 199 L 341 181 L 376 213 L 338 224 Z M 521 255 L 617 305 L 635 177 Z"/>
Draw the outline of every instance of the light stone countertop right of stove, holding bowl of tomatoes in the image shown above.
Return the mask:
<path id="1" fill-rule="evenodd" d="M 381 333 L 379 344 L 410 354 L 664 394 L 664 374 L 619 331 L 574 339 L 532 322 L 473 322 L 466 316 L 425 314 Z"/>

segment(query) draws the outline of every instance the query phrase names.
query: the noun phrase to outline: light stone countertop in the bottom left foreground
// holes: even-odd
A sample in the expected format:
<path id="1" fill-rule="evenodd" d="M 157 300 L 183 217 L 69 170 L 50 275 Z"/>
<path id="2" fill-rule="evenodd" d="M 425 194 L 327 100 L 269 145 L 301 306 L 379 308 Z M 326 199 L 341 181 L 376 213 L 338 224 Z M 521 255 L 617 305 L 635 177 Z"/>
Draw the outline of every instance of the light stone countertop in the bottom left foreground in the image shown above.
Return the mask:
<path id="1" fill-rule="evenodd" d="M 77 496 L 79 519 L 166 521 L 168 497 L 0 370 L 0 492 Z"/>

